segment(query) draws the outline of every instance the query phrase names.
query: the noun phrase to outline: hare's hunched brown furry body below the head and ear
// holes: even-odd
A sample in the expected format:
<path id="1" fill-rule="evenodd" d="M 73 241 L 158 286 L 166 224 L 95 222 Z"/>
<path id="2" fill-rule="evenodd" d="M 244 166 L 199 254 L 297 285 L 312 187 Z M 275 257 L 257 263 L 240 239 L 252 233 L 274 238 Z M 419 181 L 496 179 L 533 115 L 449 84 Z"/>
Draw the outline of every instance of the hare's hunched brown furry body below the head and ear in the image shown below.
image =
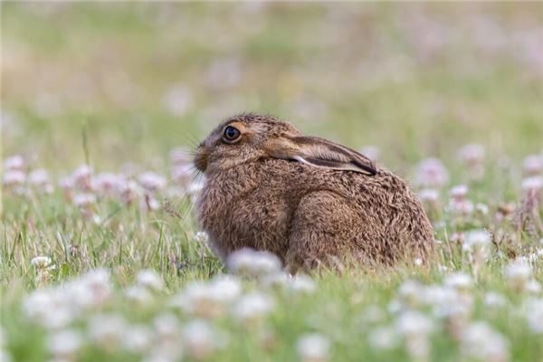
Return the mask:
<path id="1" fill-rule="evenodd" d="M 243 158 L 206 172 L 198 219 L 221 257 L 251 247 L 293 267 L 425 259 L 432 226 L 404 181 L 369 160 L 371 174 L 304 157 Z"/>

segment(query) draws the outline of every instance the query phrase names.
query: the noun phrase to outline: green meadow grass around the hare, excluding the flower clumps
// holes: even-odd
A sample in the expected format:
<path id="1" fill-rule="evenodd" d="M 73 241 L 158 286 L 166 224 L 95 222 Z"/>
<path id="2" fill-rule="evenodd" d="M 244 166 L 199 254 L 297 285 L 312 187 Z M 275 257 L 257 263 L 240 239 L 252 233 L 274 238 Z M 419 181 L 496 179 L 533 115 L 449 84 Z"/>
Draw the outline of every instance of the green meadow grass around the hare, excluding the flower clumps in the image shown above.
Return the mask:
<path id="1" fill-rule="evenodd" d="M 317 289 L 308 294 L 269 291 L 259 281 L 244 280 L 244 292 L 267 293 L 275 307 L 250 329 L 229 312 L 212 320 L 226 343 L 209 360 L 299 360 L 296 342 L 309 332 L 329 339 L 330 360 L 417 359 L 405 341 L 390 350 L 369 342 L 378 326 L 394 325 L 405 310 L 420 310 L 433 320 L 427 360 L 465 360 L 462 343 L 446 320 L 432 317 L 430 306 L 394 308 L 406 280 L 442 285 L 454 271 L 473 278 L 468 324 L 489 323 L 507 339 L 510 360 L 543 360 L 541 334 L 529 329 L 523 314 L 528 300 L 541 300 L 541 291 L 515 291 L 503 274 L 515 257 L 543 250 L 541 197 L 524 227 L 517 227 L 514 214 L 506 220 L 496 216 L 506 203 L 527 207 L 522 161 L 543 147 L 543 74 L 533 60 L 537 39 L 540 44 L 538 5 L 1 6 L 3 156 L 23 155 L 25 172 L 44 167 L 55 185 L 87 158 L 97 172 L 119 172 L 133 163 L 138 172 L 169 178 L 172 148 L 194 147 L 221 119 L 247 110 L 290 119 L 306 133 L 353 148 L 375 145 L 382 163 L 410 182 L 424 157 L 439 157 L 447 166 L 450 181 L 439 188 L 432 213 L 435 237 L 443 242 L 432 265 L 349 269 L 342 275 L 322 271 L 313 275 Z M 491 35 L 482 36 L 489 29 Z M 429 34 L 440 36 L 427 40 Z M 494 40 L 503 43 L 492 48 Z M 176 114 L 164 99 L 179 85 L 190 100 Z M 486 149 L 485 173 L 476 181 L 457 157 L 472 142 Z M 489 214 L 448 214 L 447 191 L 459 184 L 468 185 L 468 199 L 488 205 Z M 227 272 L 195 241 L 190 201 L 167 190 L 157 199 L 174 212 L 148 212 L 138 203 L 104 198 L 92 208 L 99 223 L 84 217 L 56 186 L 51 195 L 24 196 L 8 187 L 2 197 L 2 348 L 15 361 L 51 357 L 47 339 L 54 333 L 22 308 L 35 290 L 92 269 L 110 270 L 111 298 L 71 327 L 85 341 L 76 360 L 139 360 L 140 354 L 91 342 L 88 320 L 110 312 L 150 328 L 157 315 L 171 312 L 186 326 L 195 316 L 172 308 L 173 296 L 187 283 Z M 455 233 L 472 229 L 493 235 L 489 260 L 476 274 L 462 245 L 453 241 Z M 57 267 L 46 281 L 38 280 L 31 264 L 39 255 Z M 157 271 L 165 282 L 146 306 L 123 294 L 142 269 Z M 543 283 L 543 256 L 532 262 L 532 278 Z M 504 297 L 503 306 L 484 303 L 491 291 Z M 383 318 L 368 321 L 375 306 Z"/>

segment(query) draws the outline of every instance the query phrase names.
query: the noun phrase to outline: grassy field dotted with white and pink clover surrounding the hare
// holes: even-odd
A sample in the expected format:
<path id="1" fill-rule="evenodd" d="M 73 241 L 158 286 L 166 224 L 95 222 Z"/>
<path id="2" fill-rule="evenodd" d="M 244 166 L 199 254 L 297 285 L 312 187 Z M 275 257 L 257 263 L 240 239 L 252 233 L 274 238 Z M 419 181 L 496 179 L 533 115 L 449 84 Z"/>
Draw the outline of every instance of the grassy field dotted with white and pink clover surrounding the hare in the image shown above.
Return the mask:
<path id="1" fill-rule="evenodd" d="M 3 362 L 543 361 L 540 4 L 0 6 Z M 185 155 L 243 111 L 405 177 L 436 260 L 226 270 Z"/>

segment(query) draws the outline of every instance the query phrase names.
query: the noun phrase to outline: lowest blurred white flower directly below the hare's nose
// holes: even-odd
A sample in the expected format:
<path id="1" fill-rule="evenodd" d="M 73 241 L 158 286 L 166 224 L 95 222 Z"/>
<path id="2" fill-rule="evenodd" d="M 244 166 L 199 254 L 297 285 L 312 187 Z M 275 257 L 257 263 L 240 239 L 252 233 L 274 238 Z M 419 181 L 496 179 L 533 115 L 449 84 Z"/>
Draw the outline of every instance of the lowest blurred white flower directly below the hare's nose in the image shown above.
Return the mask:
<path id="1" fill-rule="evenodd" d="M 203 359 L 224 346 L 224 338 L 203 320 L 188 323 L 183 330 L 183 342 L 190 357 Z"/>

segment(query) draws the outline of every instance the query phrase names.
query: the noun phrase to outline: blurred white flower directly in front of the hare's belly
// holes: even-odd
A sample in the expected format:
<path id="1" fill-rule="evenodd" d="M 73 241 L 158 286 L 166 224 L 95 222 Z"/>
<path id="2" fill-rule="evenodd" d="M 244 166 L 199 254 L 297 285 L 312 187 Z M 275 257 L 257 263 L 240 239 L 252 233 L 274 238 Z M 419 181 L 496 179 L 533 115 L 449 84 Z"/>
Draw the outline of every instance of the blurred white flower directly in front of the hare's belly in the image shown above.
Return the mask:
<path id="1" fill-rule="evenodd" d="M 226 262 L 236 274 L 258 277 L 281 271 L 281 261 L 271 252 L 257 252 L 243 248 L 233 252 Z"/>

